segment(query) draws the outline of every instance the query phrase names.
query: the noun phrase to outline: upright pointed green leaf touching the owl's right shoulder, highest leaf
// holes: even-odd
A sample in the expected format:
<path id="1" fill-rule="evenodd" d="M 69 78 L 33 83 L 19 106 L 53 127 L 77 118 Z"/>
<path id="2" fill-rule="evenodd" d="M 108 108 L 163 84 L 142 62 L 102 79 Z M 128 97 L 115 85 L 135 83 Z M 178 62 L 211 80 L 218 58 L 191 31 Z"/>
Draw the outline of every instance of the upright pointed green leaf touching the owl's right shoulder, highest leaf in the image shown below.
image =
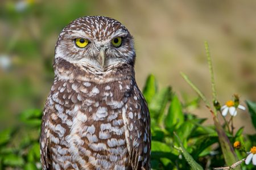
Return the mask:
<path id="1" fill-rule="evenodd" d="M 150 74 L 148 75 L 146 84 L 143 88 L 143 95 L 148 104 L 151 102 L 152 98 L 156 94 L 156 91 L 157 91 L 157 85 L 156 85 L 155 76 Z"/>

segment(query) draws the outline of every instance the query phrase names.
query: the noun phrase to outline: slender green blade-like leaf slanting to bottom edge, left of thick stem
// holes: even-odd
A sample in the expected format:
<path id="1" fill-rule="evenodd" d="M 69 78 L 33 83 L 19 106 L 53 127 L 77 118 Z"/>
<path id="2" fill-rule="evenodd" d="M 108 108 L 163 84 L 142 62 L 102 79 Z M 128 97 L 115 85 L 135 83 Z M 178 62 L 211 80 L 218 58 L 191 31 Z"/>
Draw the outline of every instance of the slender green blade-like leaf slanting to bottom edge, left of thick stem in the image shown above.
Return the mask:
<path id="1" fill-rule="evenodd" d="M 192 169 L 195 170 L 203 170 L 203 167 L 201 167 L 201 165 L 199 165 L 194 159 L 193 157 L 187 152 L 187 150 L 185 150 L 182 142 L 180 141 L 180 138 L 177 136 L 176 133 L 174 133 L 175 137 L 177 138 L 177 141 L 179 141 L 179 149 L 182 152 L 184 158 L 187 160 L 188 164 L 191 166 Z"/>

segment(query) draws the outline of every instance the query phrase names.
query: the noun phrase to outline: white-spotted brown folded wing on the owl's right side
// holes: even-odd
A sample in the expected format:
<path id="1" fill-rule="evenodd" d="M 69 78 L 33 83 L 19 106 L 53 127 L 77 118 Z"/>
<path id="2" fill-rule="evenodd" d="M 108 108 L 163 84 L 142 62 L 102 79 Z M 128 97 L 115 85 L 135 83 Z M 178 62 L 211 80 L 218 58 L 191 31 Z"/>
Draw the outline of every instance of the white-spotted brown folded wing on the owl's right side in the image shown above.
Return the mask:
<path id="1" fill-rule="evenodd" d="M 133 169 L 150 169 L 150 114 L 137 85 L 123 108 L 125 137 Z"/>

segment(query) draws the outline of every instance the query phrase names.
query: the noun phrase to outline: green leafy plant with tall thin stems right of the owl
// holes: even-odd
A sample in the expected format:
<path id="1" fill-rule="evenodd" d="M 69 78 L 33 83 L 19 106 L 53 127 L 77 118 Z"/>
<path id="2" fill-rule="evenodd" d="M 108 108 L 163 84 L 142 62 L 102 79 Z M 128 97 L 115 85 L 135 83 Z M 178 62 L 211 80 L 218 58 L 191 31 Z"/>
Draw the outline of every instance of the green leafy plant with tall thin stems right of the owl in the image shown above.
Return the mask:
<path id="1" fill-rule="evenodd" d="M 199 105 L 198 99 L 181 103 L 177 95 L 171 91 L 171 87 L 158 90 L 154 76 L 148 76 L 143 92 L 152 119 L 153 169 L 187 169 L 188 164 L 191 169 L 203 169 L 203 167 L 204 169 L 210 169 L 223 167 L 225 164 L 229 167 L 215 169 L 253 169 L 252 165 L 242 163 L 247 156 L 245 148 L 248 150 L 255 145 L 256 134 L 243 134 L 242 127 L 234 134 L 233 116 L 235 115 L 231 116 L 230 120 L 226 120 L 226 117 L 223 116 L 225 123 L 220 124 L 217 116 L 218 114 L 224 114 L 224 109 L 221 109 L 217 100 L 213 66 L 207 42 L 205 43 L 205 49 L 212 79 L 213 104 L 210 104 L 187 75 L 184 73 L 181 73 L 181 75 L 197 92 L 200 99 L 204 101 L 213 117 L 214 126 L 203 124 L 204 118 L 198 118 L 187 112 L 187 108 Z M 256 104 L 251 101 L 246 101 L 246 104 L 255 127 Z M 229 103 L 228 107 L 234 107 L 232 109 L 243 108 L 239 104 L 238 95 L 234 95 L 234 101 L 231 105 Z M 242 147 L 234 150 L 232 143 L 235 141 L 240 141 Z"/>

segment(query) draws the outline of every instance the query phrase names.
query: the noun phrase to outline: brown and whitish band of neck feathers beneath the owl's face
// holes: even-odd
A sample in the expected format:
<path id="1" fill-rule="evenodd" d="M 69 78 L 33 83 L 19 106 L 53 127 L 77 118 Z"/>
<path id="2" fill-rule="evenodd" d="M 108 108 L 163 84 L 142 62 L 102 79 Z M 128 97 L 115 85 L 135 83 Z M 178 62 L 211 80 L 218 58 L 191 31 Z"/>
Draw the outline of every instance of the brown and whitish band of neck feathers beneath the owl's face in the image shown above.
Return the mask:
<path id="1" fill-rule="evenodd" d="M 53 63 L 53 69 L 55 70 L 55 76 L 59 79 L 76 79 L 95 83 L 133 79 L 135 76 L 134 67 L 129 63 L 118 63 L 105 71 L 100 71 L 89 65 L 71 63 L 63 58 L 57 58 Z"/>

